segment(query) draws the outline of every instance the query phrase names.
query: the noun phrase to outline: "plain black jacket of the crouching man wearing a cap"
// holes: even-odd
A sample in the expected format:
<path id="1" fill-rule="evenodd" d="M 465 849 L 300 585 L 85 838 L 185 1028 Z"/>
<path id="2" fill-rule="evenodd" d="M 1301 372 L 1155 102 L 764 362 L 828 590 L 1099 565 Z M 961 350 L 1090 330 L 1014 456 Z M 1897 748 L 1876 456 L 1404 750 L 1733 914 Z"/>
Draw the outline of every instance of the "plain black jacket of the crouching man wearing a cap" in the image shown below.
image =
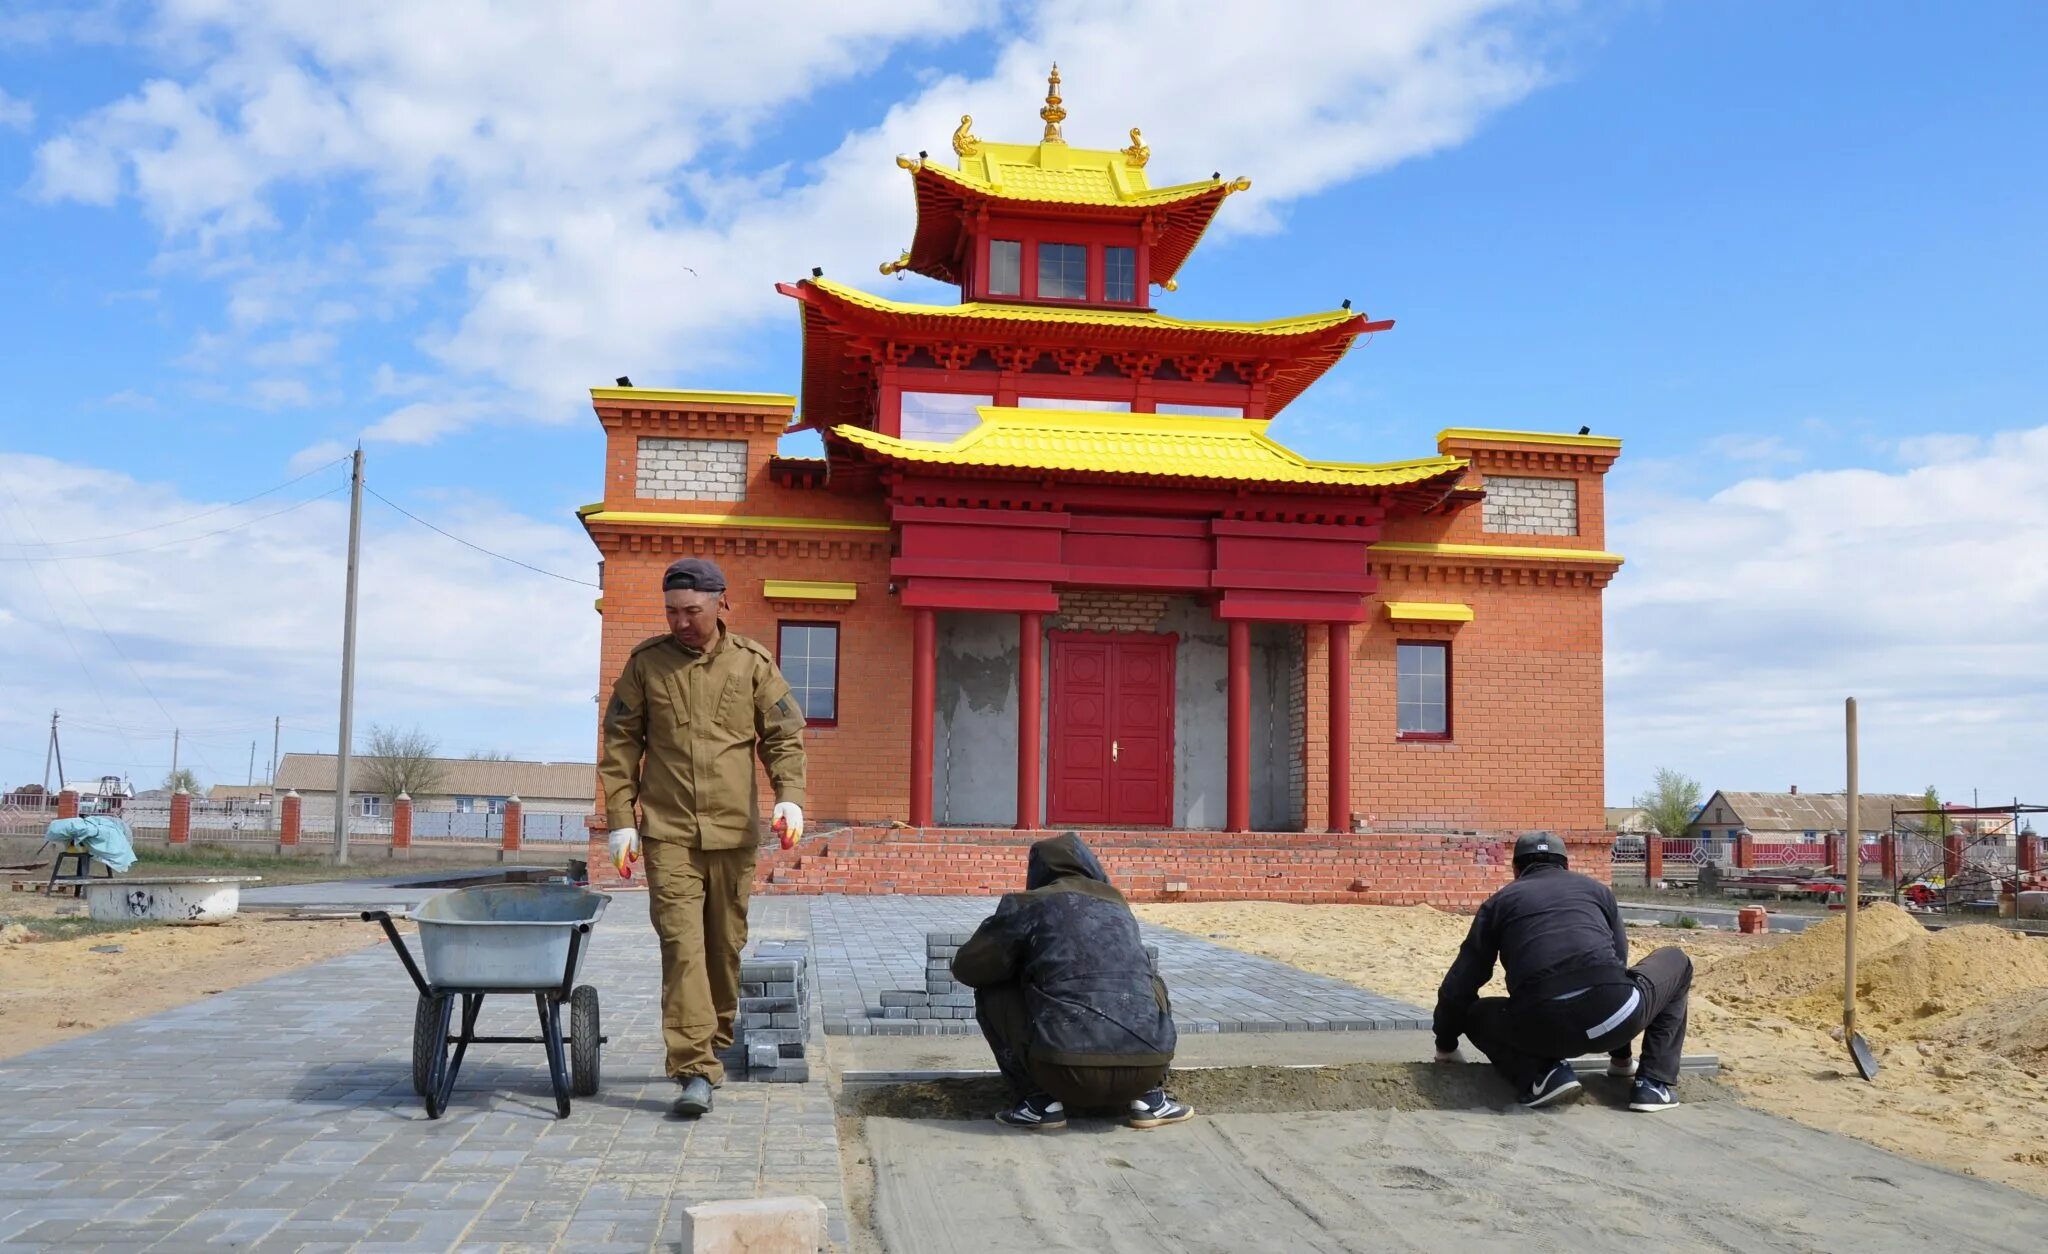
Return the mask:
<path id="1" fill-rule="evenodd" d="M 1473 916 L 1436 994 L 1436 1043 L 1452 1049 L 1499 959 L 1507 1000 L 1550 998 L 1628 979 L 1628 928 L 1614 889 L 1554 863 L 1536 863 Z"/>

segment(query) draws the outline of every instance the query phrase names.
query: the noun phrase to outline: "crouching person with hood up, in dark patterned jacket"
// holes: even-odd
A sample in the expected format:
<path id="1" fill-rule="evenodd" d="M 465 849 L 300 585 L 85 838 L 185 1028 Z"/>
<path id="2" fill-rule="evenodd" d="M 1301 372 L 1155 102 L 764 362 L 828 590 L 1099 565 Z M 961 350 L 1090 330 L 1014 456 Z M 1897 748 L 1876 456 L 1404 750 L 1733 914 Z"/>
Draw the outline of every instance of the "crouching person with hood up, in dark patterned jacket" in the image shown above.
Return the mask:
<path id="1" fill-rule="evenodd" d="M 1139 920 L 1096 854 L 1067 832 L 1030 846 L 1024 891 L 1006 893 L 952 959 L 1018 1104 L 1008 1127 L 1067 1127 L 1067 1106 L 1120 1106 L 1130 1127 L 1194 1115 L 1165 1094 L 1174 1006 L 1151 973 Z"/>

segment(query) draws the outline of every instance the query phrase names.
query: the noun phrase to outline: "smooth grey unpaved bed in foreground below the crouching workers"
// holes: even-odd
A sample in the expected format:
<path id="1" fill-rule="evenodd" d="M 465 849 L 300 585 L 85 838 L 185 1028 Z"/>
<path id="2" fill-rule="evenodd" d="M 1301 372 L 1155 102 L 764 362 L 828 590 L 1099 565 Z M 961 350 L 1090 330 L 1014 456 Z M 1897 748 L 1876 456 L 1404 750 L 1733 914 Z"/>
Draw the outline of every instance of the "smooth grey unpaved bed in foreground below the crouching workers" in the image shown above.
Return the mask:
<path id="1" fill-rule="evenodd" d="M 2048 1203 L 1735 1102 L 864 1121 L 885 1250 L 2038 1250 Z M 854 1201 L 858 1213 L 860 1203 Z M 2032 1236 L 2030 1236 L 2032 1234 Z"/>

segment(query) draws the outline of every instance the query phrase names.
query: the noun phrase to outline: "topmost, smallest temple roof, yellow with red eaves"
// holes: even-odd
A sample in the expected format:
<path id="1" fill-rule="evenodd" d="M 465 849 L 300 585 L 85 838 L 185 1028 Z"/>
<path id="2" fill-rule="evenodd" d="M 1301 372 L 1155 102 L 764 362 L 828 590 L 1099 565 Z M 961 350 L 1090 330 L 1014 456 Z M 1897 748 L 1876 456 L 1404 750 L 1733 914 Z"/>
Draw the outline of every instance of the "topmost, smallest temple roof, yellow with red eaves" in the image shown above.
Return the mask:
<path id="1" fill-rule="evenodd" d="M 958 283 L 965 221 L 983 207 L 1010 205 L 1094 221 L 1151 217 L 1151 279 L 1169 285 L 1223 199 L 1249 189 L 1251 180 L 1204 178 L 1151 186 L 1145 168 L 1130 160 L 1128 152 L 979 139 L 958 168 L 932 158 L 897 158 L 918 193 L 918 232 L 903 256 L 883 266 L 883 275 L 911 270 L 940 283 Z"/>

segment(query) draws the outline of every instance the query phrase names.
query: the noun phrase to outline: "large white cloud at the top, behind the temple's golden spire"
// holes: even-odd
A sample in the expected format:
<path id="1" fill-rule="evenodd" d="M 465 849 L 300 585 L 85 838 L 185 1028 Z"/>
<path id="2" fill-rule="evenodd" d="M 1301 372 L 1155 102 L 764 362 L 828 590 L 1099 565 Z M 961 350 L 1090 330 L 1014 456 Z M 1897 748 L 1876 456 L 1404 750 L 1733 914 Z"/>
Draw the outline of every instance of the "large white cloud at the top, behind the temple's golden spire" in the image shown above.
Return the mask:
<path id="1" fill-rule="evenodd" d="M 786 318 L 774 283 L 813 264 L 879 283 L 911 227 L 893 156 L 944 152 L 961 113 L 987 137 L 1034 137 L 1055 57 L 1071 141 L 1118 148 L 1143 125 L 1155 178 L 1253 174 L 1225 229 L 1260 229 L 1292 199 L 1462 141 L 1536 88 L 1522 8 L 1057 0 L 995 31 L 995 4 L 956 0 L 813 0 L 774 23 L 668 0 L 184 0 L 164 6 L 158 41 L 193 70 L 74 121 L 39 150 L 37 186 L 139 199 L 193 264 L 238 275 L 242 332 L 301 318 L 317 293 L 389 316 L 459 275 L 459 307 L 422 344 L 446 379 L 412 398 L 434 408 L 373 428 L 432 438 L 494 416 L 580 420 L 582 389 L 618 373 L 702 379 L 739 334 Z M 979 78 L 924 76 L 829 152 L 748 166 L 752 137 L 817 88 L 967 33 L 987 49 Z M 330 184 L 369 205 L 369 225 L 291 254 L 297 232 L 272 227 L 295 225 L 293 193 Z M 266 291 L 274 275 L 307 283 Z"/>

